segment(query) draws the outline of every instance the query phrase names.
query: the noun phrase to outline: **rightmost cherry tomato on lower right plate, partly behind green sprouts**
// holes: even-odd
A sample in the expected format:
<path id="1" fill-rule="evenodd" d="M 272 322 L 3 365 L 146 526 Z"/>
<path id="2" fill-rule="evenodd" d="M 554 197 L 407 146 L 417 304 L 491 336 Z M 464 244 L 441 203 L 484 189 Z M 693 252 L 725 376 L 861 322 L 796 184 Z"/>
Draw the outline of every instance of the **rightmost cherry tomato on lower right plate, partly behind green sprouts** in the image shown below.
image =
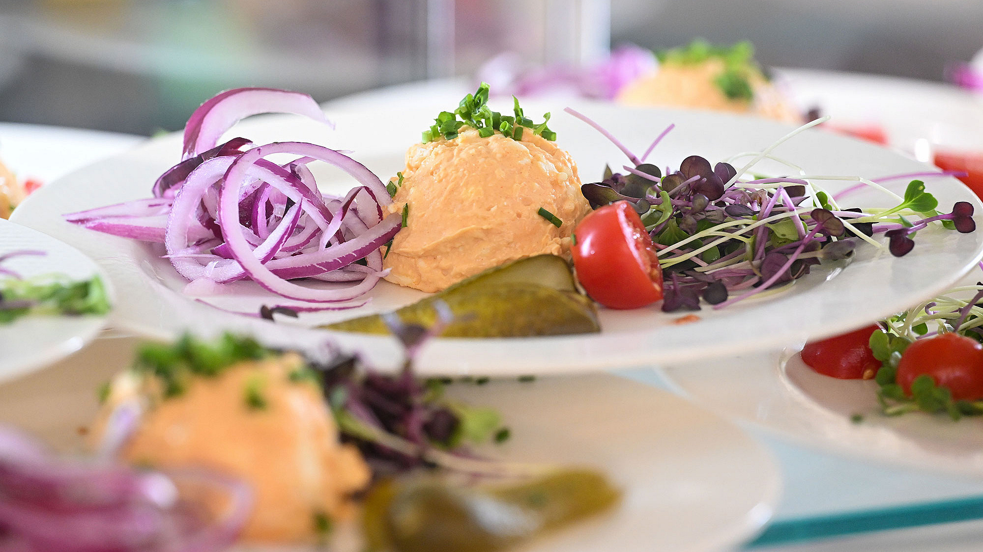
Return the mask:
<path id="1" fill-rule="evenodd" d="M 897 362 L 897 383 L 906 395 L 922 374 L 953 392 L 955 400 L 983 399 L 983 345 L 955 333 L 916 340 Z"/>

